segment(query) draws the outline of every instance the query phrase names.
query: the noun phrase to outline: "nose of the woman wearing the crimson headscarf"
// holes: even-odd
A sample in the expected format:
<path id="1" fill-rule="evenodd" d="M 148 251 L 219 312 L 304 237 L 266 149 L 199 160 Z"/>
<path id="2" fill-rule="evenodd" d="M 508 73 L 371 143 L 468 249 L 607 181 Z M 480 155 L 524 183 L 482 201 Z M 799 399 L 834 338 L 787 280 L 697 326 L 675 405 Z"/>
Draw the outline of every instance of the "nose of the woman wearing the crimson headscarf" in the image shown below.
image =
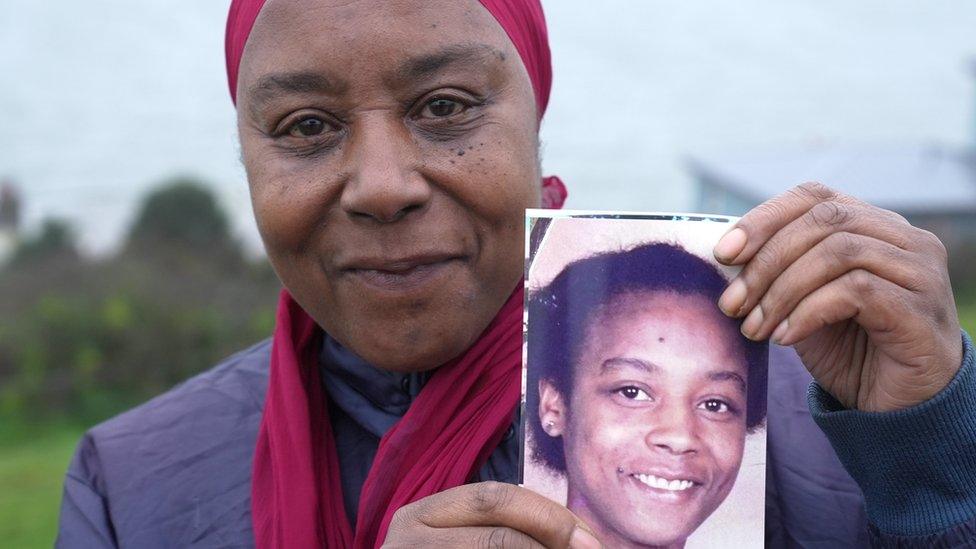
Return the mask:
<path id="1" fill-rule="evenodd" d="M 430 201 L 431 187 L 409 130 L 381 115 L 364 117 L 347 142 L 347 181 L 340 198 L 352 218 L 391 223 Z"/>

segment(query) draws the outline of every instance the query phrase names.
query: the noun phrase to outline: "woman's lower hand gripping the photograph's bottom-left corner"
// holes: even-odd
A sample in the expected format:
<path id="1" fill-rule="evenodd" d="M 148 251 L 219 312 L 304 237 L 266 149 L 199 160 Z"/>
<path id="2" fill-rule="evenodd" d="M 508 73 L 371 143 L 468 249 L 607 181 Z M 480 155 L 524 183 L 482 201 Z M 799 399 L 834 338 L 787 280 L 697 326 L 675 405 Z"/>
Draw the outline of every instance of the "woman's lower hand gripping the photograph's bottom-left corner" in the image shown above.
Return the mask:
<path id="1" fill-rule="evenodd" d="M 383 547 L 596 549 L 600 542 L 562 505 L 513 484 L 480 482 L 401 507 Z"/>

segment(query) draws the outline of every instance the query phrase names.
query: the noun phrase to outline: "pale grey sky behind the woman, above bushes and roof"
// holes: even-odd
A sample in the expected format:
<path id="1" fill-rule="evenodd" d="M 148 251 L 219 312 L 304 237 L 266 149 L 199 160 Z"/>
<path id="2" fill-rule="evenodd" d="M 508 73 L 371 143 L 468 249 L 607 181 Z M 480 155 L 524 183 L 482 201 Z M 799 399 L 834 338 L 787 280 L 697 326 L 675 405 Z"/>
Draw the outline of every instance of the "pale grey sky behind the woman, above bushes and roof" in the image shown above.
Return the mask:
<path id="1" fill-rule="evenodd" d="M 66 218 L 108 251 L 148 189 L 192 175 L 260 249 L 225 80 L 228 5 L 0 2 L 0 178 L 21 188 L 27 230 Z M 567 207 L 688 210 L 692 157 L 974 144 L 973 2 L 543 5 L 543 167 L 566 181 Z"/>

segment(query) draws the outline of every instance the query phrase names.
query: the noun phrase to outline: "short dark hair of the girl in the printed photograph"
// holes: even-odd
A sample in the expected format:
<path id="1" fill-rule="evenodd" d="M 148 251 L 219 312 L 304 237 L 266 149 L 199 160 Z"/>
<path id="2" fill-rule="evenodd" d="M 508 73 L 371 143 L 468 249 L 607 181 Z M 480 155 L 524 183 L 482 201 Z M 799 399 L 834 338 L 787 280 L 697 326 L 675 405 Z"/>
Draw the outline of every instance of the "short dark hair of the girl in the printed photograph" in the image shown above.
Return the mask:
<path id="1" fill-rule="evenodd" d="M 548 286 L 529 295 L 526 305 L 529 374 L 525 416 L 535 443 L 532 458 L 557 472 L 566 470 L 562 437 L 552 437 L 539 419 L 539 381 L 548 380 L 565 399 L 592 314 L 622 294 L 671 292 L 702 296 L 716 303 L 728 285 L 719 270 L 680 246 L 654 243 L 629 251 L 602 253 L 568 265 Z M 728 319 L 738 333 L 739 321 Z M 767 346 L 741 337 L 748 364 L 746 427 L 766 417 Z"/>

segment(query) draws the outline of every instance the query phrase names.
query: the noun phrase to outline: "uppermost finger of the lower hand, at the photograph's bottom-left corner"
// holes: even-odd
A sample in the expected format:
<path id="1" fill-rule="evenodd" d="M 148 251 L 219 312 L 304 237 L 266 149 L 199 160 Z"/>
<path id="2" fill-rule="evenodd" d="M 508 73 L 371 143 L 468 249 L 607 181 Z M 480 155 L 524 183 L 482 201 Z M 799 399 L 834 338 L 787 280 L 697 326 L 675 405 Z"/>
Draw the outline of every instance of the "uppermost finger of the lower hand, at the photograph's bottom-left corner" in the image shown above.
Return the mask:
<path id="1" fill-rule="evenodd" d="M 430 534 L 431 529 L 457 528 L 469 529 L 465 531 L 477 536 L 484 535 L 484 528 L 507 528 L 544 547 L 600 547 L 599 541 L 569 509 L 526 488 L 500 482 L 458 486 L 401 508 L 390 524 L 387 541 L 407 533 L 427 531 Z M 442 534 L 443 531 L 438 533 Z M 423 538 L 421 535 L 417 539 Z M 479 539 L 483 540 L 471 538 L 470 542 L 477 543 Z"/>

